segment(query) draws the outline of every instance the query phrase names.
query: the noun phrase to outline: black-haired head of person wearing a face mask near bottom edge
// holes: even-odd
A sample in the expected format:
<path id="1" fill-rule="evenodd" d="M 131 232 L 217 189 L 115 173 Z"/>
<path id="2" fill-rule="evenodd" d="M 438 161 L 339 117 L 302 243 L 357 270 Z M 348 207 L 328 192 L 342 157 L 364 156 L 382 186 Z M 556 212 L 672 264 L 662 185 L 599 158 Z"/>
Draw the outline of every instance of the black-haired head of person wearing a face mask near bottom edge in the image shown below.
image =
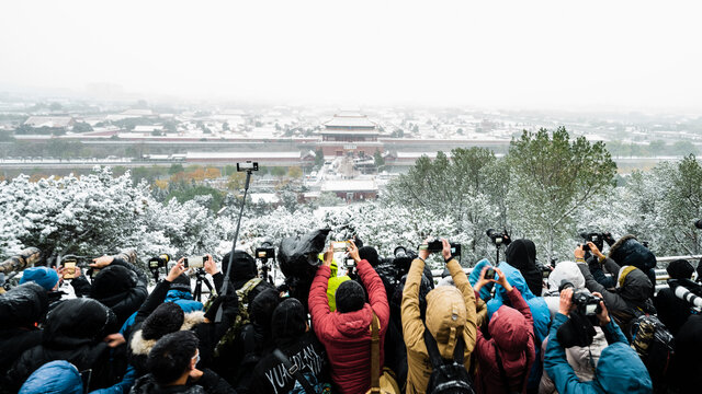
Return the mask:
<path id="1" fill-rule="evenodd" d="M 197 336 L 191 331 L 179 331 L 160 338 L 146 361 L 156 383 L 173 385 L 186 378 L 197 364 Z"/>

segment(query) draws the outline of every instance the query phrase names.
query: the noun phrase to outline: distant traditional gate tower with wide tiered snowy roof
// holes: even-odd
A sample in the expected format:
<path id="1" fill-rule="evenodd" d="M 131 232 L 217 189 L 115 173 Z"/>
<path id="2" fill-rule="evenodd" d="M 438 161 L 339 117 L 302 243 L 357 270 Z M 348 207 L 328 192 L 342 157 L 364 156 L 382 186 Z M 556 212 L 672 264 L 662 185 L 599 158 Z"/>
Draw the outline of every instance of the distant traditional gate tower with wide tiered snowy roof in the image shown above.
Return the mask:
<path id="1" fill-rule="evenodd" d="M 326 157 L 349 153 L 372 157 L 376 150 L 383 151 L 383 143 L 377 140 L 377 125 L 365 115 L 340 113 L 324 126 L 319 147 Z"/>

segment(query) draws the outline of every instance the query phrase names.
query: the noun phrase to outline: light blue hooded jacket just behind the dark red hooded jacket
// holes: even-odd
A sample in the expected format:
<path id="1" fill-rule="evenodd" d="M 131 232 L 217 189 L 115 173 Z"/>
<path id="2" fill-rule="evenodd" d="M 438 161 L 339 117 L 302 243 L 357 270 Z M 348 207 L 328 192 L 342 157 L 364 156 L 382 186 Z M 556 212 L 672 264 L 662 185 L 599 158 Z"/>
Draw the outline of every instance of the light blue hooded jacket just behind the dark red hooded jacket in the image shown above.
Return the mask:
<path id="1" fill-rule="evenodd" d="M 512 267 L 511 265 L 502 262 L 498 266 L 499 269 L 502 270 L 507 281 L 512 286 L 519 289 L 519 292 L 522 293 L 524 301 L 529 304 L 529 310 L 531 311 L 532 317 L 534 320 L 534 337 L 536 339 L 535 348 L 536 348 L 536 360 L 531 368 L 529 373 L 529 383 L 528 387 L 536 389 L 539 387 L 539 382 L 541 381 L 541 374 L 543 373 L 543 364 L 541 363 L 541 344 L 544 341 L 546 336 L 548 335 L 548 324 L 551 324 L 551 312 L 548 312 L 548 305 L 543 298 L 534 296 L 531 290 L 529 290 L 529 286 L 526 285 L 526 280 L 519 271 L 519 269 Z M 483 290 L 483 289 L 480 289 Z M 502 304 L 503 300 L 507 300 L 507 291 L 500 285 L 495 285 L 495 297 L 487 302 L 487 315 L 488 317 L 492 317 L 492 313 L 495 313 Z"/>

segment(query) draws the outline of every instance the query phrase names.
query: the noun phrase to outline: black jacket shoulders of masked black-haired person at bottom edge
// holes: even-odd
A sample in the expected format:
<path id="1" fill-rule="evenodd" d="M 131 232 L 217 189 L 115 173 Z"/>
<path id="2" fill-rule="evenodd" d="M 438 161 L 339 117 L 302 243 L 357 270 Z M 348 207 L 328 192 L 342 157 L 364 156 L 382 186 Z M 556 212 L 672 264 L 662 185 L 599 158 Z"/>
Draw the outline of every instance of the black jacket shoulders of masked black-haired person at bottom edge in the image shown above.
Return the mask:
<path id="1" fill-rule="evenodd" d="M 129 391 L 132 394 L 171 394 L 171 393 L 184 393 L 184 394 L 236 394 L 236 391 L 231 389 L 229 383 L 219 378 L 218 374 L 212 372 L 208 369 L 202 370 L 203 375 L 197 382 L 192 382 L 190 379 L 188 383 L 179 386 L 161 387 L 154 381 L 150 374 L 144 375 L 134 383 L 134 386 Z"/>

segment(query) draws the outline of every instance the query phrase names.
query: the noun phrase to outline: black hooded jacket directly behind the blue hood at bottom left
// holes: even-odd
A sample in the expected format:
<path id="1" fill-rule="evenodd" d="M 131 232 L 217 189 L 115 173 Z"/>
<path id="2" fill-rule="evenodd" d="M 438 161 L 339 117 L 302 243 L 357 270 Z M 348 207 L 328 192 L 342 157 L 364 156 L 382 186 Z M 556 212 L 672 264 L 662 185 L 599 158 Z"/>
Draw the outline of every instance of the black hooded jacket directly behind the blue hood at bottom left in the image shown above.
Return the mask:
<path id="1" fill-rule="evenodd" d="M 92 299 L 71 299 L 49 312 L 42 345 L 20 356 L 8 372 L 9 381 L 19 387 L 41 366 L 66 360 L 79 371 L 92 370 L 89 390 L 112 384 L 110 348 L 102 339 L 116 333 L 112 310 Z"/>

